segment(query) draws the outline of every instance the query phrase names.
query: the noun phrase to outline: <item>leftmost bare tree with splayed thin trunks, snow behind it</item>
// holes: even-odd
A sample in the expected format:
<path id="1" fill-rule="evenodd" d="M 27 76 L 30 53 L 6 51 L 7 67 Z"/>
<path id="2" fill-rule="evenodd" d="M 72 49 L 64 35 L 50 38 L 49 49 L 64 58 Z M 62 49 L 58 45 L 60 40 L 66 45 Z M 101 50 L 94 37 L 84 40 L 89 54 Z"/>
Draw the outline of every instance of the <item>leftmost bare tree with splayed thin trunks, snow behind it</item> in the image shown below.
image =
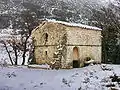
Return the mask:
<path id="1" fill-rule="evenodd" d="M 21 43 L 20 40 L 12 36 L 7 40 L 1 40 L 0 43 L 3 44 L 5 50 L 9 56 L 12 65 L 18 65 L 18 57 L 20 55 Z"/>

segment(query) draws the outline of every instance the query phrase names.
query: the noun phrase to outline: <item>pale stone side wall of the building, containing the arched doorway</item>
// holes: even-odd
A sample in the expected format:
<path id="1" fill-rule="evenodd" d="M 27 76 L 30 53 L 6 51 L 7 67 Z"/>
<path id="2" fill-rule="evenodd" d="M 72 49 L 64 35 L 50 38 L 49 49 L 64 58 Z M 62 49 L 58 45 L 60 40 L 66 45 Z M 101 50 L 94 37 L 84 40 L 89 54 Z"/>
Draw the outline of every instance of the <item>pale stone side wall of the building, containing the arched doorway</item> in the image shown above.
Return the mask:
<path id="1" fill-rule="evenodd" d="M 67 27 L 66 31 L 68 45 L 66 65 L 73 61 L 74 47 L 78 48 L 80 62 L 84 62 L 86 57 L 101 62 L 101 31 L 78 27 Z"/>

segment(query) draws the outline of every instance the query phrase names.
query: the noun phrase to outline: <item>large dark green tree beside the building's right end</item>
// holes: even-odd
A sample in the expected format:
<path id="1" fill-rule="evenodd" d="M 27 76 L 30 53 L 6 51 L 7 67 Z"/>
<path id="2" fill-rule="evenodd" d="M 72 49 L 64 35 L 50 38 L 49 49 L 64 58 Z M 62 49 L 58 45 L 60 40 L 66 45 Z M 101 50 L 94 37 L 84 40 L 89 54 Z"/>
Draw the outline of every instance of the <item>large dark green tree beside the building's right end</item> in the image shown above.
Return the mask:
<path id="1" fill-rule="evenodd" d="M 117 1 L 118 2 L 118 1 Z M 119 1 L 120 3 L 120 1 Z M 102 61 L 120 64 L 120 6 L 110 3 L 108 7 L 93 11 L 94 25 L 102 28 Z"/>

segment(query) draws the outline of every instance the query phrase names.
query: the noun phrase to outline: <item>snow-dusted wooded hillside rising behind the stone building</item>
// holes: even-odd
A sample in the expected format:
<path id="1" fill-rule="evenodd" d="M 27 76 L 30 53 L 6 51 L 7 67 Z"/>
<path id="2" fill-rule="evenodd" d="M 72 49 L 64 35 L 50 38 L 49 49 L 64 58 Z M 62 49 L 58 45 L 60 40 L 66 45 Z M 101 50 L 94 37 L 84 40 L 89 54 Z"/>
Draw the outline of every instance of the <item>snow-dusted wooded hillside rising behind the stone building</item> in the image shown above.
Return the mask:
<path id="1" fill-rule="evenodd" d="M 15 23 L 24 10 L 35 13 L 38 19 L 88 24 L 92 16 L 91 9 L 99 9 L 104 5 L 108 5 L 108 0 L 1 0 L 0 28 L 7 28 L 10 20 Z"/>

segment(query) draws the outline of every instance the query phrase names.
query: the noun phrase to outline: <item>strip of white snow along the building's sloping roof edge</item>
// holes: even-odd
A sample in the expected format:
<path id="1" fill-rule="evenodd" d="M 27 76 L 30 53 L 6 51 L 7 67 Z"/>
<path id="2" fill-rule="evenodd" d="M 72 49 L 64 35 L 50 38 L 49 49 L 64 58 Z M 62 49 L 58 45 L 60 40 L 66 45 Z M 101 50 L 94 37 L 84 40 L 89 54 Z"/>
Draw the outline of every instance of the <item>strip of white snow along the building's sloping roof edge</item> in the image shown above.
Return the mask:
<path id="1" fill-rule="evenodd" d="M 81 27 L 81 28 L 92 29 L 92 30 L 102 30 L 101 28 L 98 28 L 98 27 L 83 25 L 80 23 L 68 23 L 68 22 L 64 22 L 64 21 L 56 21 L 55 19 L 46 19 L 46 21 L 53 22 L 53 23 L 60 23 L 60 24 L 64 24 L 67 26 Z"/>

